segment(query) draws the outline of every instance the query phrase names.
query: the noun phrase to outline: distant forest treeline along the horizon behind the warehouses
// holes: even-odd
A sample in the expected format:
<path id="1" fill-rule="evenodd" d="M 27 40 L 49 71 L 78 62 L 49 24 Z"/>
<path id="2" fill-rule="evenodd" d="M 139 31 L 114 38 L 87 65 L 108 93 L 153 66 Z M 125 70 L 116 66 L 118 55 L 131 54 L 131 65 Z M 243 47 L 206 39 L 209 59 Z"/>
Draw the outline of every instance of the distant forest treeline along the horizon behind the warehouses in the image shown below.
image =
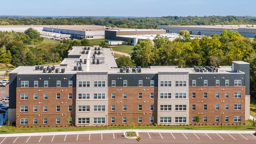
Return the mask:
<path id="1" fill-rule="evenodd" d="M 204 16 L 204 17 L 141 17 L 141 18 L 13 18 L 0 17 L 0 25 L 102 25 L 119 28 L 156 29 L 159 25 L 238 25 L 256 24 L 256 17 Z"/>

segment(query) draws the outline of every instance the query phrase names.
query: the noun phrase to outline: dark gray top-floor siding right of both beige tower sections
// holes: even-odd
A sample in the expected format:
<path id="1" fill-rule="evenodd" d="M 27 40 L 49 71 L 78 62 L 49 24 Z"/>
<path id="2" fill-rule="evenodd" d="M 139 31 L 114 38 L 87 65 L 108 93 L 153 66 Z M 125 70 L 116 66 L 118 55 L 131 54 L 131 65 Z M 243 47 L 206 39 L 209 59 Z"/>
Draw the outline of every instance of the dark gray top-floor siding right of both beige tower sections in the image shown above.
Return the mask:
<path id="1" fill-rule="evenodd" d="M 215 78 L 214 78 L 215 77 Z M 199 79 L 198 79 L 199 78 Z M 202 79 L 201 79 L 202 78 Z M 224 79 L 223 79 L 224 78 Z M 243 78 L 243 79 L 242 79 Z M 234 80 L 242 80 L 242 86 L 245 86 L 245 74 L 189 74 L 189 87 L 192 87 L 192 80 L 196 80 L 196 86 L 204 86 L 204 80 L 208 80 L 208 86 L 216 86 L 216 80 L 220 81 L 220 86 L 225 86 L 225 80 L 229 80 L 229 86 L 234 86 Z"/>

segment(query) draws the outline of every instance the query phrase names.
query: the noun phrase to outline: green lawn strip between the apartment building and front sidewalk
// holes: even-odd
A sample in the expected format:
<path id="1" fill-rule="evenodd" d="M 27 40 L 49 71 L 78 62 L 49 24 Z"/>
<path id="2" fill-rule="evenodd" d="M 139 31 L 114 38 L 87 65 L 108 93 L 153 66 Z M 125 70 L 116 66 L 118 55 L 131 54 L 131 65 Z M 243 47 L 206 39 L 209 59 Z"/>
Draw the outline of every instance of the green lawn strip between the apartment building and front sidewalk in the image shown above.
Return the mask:
<path id="1" fill-rule="evenodd" d="M 252 121 L 246 120 L 245 125 L 223 125 L 223 130 L 253 130 L 251 128 Z M 40 132 L 58 132 L 58 131 L 95 131 L 95 130 L 105 130 L 106 127 L 98 126 L 86 126 L 86 127 L 11 127 L 11 126 L 1 126 L 0 127 L 0 134 L 2 133 L 40 133 Z M 130 126 L 108 126 L 108 130 L 113 129 L 130 129 Z M 135 129 L 199 129 L 199 126 L 135 126 Z M 200 126 L 200 130 L 221 130 L 221 125 L 211 125 L 211 126 Z"/>

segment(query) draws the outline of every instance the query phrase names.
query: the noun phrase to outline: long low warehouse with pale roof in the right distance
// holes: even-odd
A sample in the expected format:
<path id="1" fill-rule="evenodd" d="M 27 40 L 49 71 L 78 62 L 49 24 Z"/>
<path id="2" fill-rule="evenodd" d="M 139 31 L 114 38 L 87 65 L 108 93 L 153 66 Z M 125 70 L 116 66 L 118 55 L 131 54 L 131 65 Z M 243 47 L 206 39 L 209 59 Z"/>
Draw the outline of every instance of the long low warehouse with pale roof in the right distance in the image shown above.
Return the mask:
<path id="1" fill-rule="evenodd" d="M 245 37 L 254 37 L 256 25 L 214 25 L 214 26 L 158 26 L 167 33 L 180 33 L 181 30 L 188 30 L 193 35 L 220 34 L 223 30 L 233 30 Z"/>

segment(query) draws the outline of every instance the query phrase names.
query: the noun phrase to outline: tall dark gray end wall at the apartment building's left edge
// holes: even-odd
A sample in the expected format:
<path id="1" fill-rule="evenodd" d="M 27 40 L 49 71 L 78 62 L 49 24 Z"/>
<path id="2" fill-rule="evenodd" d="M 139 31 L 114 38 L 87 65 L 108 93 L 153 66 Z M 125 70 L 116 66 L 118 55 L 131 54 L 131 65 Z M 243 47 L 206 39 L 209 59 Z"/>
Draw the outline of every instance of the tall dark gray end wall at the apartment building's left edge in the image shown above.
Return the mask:
<path id="1" fill-rule="evenodd" d="M 9 75 L 9 108 L 16 109 L 17 74 Z"/>

